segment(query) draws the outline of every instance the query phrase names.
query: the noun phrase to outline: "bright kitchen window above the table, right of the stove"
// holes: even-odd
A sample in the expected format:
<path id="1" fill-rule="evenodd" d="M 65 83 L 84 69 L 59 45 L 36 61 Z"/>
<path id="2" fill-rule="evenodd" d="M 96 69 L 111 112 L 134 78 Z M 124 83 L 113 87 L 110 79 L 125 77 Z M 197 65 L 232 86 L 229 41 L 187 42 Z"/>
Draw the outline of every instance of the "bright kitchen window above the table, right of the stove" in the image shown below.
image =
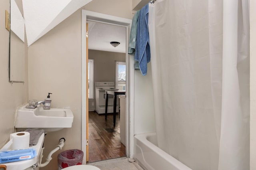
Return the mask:
<path id="1" fill-rule="evenodd" d="M 126 63 L 116 61 L 116 88 L 126 90 Z"/>

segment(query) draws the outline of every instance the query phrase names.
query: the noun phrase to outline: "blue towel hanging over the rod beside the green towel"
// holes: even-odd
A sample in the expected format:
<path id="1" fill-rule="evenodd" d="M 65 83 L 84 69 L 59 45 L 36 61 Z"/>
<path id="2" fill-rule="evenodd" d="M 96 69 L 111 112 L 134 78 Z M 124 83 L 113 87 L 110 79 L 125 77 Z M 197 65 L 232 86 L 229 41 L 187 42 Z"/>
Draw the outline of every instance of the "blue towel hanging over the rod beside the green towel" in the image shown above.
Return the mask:
<path id="1" fill-rule="evenodd" d="M 150 43 L 148 34 L 148 4 L 141 10 L 138 18 L 138 29 L 134 60 L 138 61 L 140 72 L 147 75 L 148 62 L 150 61 Z"/>

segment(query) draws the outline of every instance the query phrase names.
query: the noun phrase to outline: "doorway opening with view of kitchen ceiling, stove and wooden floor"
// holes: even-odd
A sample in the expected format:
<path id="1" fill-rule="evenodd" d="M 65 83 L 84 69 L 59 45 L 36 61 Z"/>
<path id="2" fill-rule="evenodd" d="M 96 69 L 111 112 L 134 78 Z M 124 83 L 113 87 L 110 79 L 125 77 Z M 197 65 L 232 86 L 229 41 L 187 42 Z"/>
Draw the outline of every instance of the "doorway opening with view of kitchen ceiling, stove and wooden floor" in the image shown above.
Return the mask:
<path id="1" fill-rule="evenodd" d="M 105 121 L 105 90 L 125 90 L 126 87 L 126 28 L 123 26 L 87 20 L 88 23 L 88 163 L 126 156 L 125 122 L 120 128 L 119 102 L 117 102 L 116 126 L 113 127 L 114 99 L 108 99 L 108 119 Z M 112 46 L 110 42 L 119 42 Z M 120 51 L 120 52 L 119 52 Z M 93 64 L 93 65 L 92 65 Z M 91 67 L 92 66 L 92 67 Z M 92 70 L 94 68 L 94 70 Z M 93 75 L 92 75 L 93 74 Z M 90 79 L 91 76 L 91 79 Z M 92 81 L 93 82 L 92 82 Z M 119 91 L 120 91 L 119 90 Z M 92 94 L 95 91 L 95 94 Z M 92 92 L 92 93 L 91 93 Z M 119 96 L 117 96 L 118 101 Z M 125 106 L 124 106 L 125 107 Z M 122 117 L 125 112 L 122 113 Z M 121 142 L 122 141 L 122 142 Z"/>

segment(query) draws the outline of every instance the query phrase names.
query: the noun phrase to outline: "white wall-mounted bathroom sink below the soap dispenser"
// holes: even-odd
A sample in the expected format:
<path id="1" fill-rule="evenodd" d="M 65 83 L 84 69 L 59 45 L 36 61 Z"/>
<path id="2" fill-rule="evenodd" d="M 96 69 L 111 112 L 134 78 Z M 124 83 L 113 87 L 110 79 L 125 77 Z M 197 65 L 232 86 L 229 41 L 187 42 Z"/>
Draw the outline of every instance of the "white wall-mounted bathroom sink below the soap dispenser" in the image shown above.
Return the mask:
<path id="1" fill-rule="evenodd" d="M 40 105 L 35 109 L 28 109 L 23 105 L 16 111 L 15 128 L 44 129 L 46 132 L 52 132 L 72 127 L 73 119 L 70 109 L 44 110 Z"/>

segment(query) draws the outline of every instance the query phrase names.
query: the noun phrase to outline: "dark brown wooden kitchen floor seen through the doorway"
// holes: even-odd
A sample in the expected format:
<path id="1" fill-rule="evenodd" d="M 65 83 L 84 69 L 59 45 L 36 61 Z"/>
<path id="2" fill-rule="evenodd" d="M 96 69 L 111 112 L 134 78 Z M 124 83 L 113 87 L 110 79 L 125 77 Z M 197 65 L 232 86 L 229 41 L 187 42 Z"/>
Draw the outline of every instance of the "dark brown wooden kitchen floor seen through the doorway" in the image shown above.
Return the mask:
<path id="1" fill-rule="evenodd" d="M 105 128 L 113 128 L 113 115 L 89 112 L 89 160 L 96 162 L 112 158 L 124 157 L 125 146 L 120 142 L 120 119 L 116 114 L 115 132 L 107 132 Z"/>

